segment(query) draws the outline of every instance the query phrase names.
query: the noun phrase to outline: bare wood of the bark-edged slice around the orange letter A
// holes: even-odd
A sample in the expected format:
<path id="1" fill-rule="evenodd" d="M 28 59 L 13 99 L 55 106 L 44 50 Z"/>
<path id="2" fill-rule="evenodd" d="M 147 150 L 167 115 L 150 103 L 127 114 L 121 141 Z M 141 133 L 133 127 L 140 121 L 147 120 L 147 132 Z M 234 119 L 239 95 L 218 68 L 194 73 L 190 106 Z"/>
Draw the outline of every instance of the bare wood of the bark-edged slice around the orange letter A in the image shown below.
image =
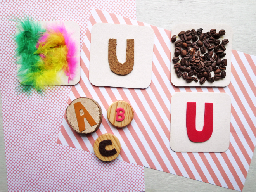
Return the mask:
<path id="1" fill-rule="evenodd" d="M 92 120 L 95 124 L 93 126 L 90 125 L 90 123 L 88 122 L 88 120 L 86 118 L 83 118 L 83 122 L 80 121 L 82 124 L 84 123 L 83 126 L 85 126 L 85 130 L 80 132 L 79 129 L 79 125 L 78 125 L 78 119 L 76 116 L 76 112 L 75 112 L 75 107 L 74 104 L 80 102 L 82 104 L 82 107 L 85 108 L 85 110 L 89 113 L 89 116 L 91 116 L 91 118 L 94 120 Z M 80 116 L 85 115 L 85 111 L 83 111 L 82 109 L 79 111 L 80 112 Z M 97 129 L 99 129 L 101 121 L 102 121 L 102 110 L 100 105 L 93 99 L 91 98 L 86 98 L 86 97 L 80 97 L 78 99 L 75 99 L 71 102 L 71 104 L 69 104 L 69 106 L 66 109 L 66 117 L 67 117 L 67 121 L 69 122 L 69 125 L 78 133 L 93 133 L 95 131 L 97 131 Z M 90 121 L 90 120 L 89 120 Z M 81 125 L 81 124 L 80 124 Z M 80 126 L 81 128 L 81 126 Z"/>

